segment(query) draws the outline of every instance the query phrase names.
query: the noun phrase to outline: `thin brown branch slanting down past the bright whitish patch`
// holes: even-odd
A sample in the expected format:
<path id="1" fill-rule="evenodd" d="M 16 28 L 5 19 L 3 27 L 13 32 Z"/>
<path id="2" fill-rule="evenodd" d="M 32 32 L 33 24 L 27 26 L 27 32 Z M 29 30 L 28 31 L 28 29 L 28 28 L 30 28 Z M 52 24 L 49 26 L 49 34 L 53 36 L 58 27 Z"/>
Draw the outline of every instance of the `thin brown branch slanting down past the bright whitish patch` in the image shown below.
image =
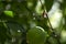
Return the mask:
<path id="1" fill-rule="evenodd" d="M 41 0 L 40 0 L 41 1 Z M 42 4 L 42 1 L 41 1 L 41 4 Z M 42 4 L 43 6 L 43 4 Z M 46 15 L 46 18 L 47 18 L 47 20 L 48 20 L 48 23 L 50 23 L 50 26 L 51 26 L 51 31 L 52 31 L 52 34 L 51 34 L 51 36 L 54 36 L 55 38 L 57 38 L 57 41 L 58 41 L 58 44 L 61 44 L 61 42 L 59 42 L 59 35 L 57 35 L 55 32 L 54 32 L 54 30 L 53 30 L 53 26 L 52 26 L 52 24 L 51 24 L 51 21 L 50 21 L 50 19 L 48 19 L 48 14 L 46 13 L 46 11 L 44 10 L 44 12 L 43 12 L 43 15 Z"/>

